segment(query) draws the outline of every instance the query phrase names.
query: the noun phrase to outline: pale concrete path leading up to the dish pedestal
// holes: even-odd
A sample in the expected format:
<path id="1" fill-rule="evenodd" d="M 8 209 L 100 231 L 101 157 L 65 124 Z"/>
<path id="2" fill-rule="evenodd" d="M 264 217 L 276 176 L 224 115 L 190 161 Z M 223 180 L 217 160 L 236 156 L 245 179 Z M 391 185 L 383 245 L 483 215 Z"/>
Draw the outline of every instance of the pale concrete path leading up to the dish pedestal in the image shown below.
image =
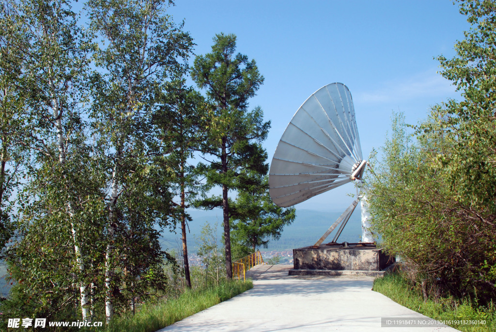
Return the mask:
<path id="1" fill-rule="evenodd" d="M 372 277 L 289 276 L 292 267 L 256 266 L 252 289 L 159 331 L 458 331 L 381 328 L 382 317 L 428 318 L 372 291 Z"/>

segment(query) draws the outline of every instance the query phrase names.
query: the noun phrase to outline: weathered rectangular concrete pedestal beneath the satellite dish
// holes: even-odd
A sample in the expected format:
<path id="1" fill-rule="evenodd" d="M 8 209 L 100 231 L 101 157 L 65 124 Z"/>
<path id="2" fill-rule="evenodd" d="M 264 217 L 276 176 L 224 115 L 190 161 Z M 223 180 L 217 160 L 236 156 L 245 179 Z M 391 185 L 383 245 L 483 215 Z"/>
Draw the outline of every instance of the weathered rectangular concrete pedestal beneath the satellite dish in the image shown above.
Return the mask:
<path id="1" fill-rule="evenodd" d="M 289 275 L 372 275 L 384 274 L 395 260 L 374 246 L 320 245 L 293 249 L 294 268 Z"/>

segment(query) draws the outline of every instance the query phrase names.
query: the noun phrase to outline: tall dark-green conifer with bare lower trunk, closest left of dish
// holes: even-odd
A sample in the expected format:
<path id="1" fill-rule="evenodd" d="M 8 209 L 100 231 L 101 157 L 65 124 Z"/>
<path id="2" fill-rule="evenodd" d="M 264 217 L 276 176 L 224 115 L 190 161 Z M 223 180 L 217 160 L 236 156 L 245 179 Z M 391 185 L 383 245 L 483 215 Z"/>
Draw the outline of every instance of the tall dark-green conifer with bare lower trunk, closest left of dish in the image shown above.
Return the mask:
<path id="1" fill-rule="evenodd" d="M 204 195 L 197 207 L 222 207 L 224 211 L 224 239 L 226 272 L 231 271 L 231 236 L 229 225 L 229 190 L 247 186 L 249 174 L 266 174 L 267 153 L 260 143 L 267 137 L 270 122 L 263 122 L 259 107 L 248 111 L 248 99 L 263 83 L 254 60 L 235 55 L 236 36 L 218 34 L 213 39 L 212 52 L 197 56 L 191 78 L 207 94 L 208 124 L 202 153 L 208 164 L 199 164 L 197 171 L 206 178 Z M 208 197 L 213 187 L 222 188 L 222 197 Z"/>

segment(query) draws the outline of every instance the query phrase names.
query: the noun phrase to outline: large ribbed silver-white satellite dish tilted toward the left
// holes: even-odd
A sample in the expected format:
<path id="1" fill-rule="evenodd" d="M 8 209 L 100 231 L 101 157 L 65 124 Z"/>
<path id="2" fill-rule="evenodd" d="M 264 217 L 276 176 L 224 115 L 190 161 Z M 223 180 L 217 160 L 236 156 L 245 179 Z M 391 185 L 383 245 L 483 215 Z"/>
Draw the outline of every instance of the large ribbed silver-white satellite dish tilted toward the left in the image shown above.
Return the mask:
<path id="1" fill-rule="evenodd" d="M 300 106 L 283 133 L 270 165 L 270 197 L 281 207 L 301 203 L 360 180 L 366 164 L 350 90 L 328 84 Z"/>

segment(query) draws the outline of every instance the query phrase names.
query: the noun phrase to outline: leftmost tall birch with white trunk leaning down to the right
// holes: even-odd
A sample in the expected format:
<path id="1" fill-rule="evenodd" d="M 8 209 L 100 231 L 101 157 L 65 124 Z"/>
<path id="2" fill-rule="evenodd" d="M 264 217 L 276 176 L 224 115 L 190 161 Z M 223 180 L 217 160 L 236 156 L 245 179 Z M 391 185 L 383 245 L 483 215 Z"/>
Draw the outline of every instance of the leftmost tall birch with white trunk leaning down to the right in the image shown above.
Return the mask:
<path id="1" fill-rule="evenodd" d="M 17 46 L 14 57 L 20 65 L 14 71 L 17 76 L 13 80 L 15 90 L 18 95 L 28 96 L 23 126 L 11 137 L 17 137 L 17 144 L 35 152 L 32 175 L 47 176 L 45 182 L 34 183 L 55 184 L 64 196 L 63 205 L 58 208 L 63 208 L 66 214 L 61 216 L 60 222 L 70 225 L 74 264 L 81 276 L 85 272 L 84 253 L 78 231 L 80 225 L 74 217 L 78 194 L 73 191 L 68 163 L 72 166 L 77 163 L 71 159 L 72 146 L 84 141 L 80 103 L 84 102 L 85 96 L 79 87 L 88 64 L 85 36 L 77 25 L 69 1 L 5 1 L 3 8 L 8 8 L 3 18 L 9 31 L 4 42 Z M 52 165 L 52 174 L 38 172 L 37 168 L 42 164 L 45 167 Z M 36 188 L 31 189 L 32 199 L 43 199 L 36 194 Z M 86 320 L 86 286 L 82 281 L 78 283 L 82 318 Z"/>

